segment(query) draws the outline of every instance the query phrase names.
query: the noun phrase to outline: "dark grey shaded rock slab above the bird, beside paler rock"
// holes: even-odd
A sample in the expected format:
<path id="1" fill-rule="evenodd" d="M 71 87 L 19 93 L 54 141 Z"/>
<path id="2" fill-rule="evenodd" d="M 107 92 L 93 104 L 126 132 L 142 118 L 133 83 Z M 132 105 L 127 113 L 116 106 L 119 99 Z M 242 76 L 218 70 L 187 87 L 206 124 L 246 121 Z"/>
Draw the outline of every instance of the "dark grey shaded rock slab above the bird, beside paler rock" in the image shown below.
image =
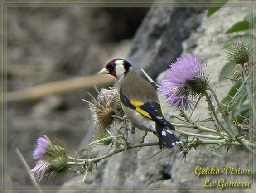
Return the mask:
<path id="1" fill-rule="evenodd" d="M 182 42 L 202 20 L 203 8 L 154 6 L 138 29 L 128 60 L 152 78 L 166 70 L 182 53 Z"/>

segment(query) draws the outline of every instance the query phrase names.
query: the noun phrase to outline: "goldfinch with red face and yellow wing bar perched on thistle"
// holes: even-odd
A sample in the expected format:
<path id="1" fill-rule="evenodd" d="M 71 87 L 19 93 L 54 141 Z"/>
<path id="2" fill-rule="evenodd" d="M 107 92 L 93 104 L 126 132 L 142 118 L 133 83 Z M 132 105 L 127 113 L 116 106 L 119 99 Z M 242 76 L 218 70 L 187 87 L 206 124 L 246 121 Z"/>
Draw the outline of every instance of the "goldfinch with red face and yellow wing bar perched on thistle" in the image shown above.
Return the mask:
<path id="1" fill-rule="evenodd" d="M 98 74 L 111 74 L 117 78 L 121 106 L 133 128 L 153 132 L 159 138 L 160 149 L 183 145 L 172 132 L 174 125 L 164 117 L 155 88 L 135 72 L 128 61 L 112 59 Z"/>

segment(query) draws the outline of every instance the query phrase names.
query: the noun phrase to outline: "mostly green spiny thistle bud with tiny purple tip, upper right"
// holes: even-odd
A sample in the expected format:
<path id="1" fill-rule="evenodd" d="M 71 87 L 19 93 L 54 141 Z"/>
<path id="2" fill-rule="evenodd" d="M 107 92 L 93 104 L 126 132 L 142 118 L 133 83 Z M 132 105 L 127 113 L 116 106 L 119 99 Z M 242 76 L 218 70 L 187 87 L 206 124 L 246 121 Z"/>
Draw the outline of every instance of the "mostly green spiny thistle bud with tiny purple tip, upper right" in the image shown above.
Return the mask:
<path id="1" fill-rule="evenodd" d="M 251 48 L 246 41 L 238 39 L 229 47 L 225 48 L 225 56 L 227 60 L 235 64 L 248 63 L 251 57 Z"/>

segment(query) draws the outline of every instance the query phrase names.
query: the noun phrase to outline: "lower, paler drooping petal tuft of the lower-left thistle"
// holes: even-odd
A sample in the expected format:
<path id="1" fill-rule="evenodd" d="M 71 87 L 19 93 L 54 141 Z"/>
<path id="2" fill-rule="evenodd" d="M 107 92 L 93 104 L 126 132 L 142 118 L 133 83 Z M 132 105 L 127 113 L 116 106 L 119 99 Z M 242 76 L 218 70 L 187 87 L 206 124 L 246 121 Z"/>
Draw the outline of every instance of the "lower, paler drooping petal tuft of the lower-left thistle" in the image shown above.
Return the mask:
<path id="1" fill-rule="evenodd" d="M 44 174 L 48 171 L 50 163 L 48 161 L 39 160 L 36 162 L 36 165 L 33 169 L 31 169 L 31 173 L 34 178 L 40 182 L 43 178 Z"/>

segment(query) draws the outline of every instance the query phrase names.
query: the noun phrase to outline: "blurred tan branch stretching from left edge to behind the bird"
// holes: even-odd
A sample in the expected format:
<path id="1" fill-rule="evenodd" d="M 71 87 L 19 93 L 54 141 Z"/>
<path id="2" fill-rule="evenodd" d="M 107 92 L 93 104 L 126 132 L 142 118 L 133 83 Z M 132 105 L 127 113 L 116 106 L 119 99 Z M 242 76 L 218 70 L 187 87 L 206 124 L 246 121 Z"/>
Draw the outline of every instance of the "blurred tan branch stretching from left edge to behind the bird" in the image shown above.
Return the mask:
<path id="1" fill-rule="evenodd" d="M 92 88 L 93 85 L 107 86 L 113 83 L 114 81 L 114 77 L 106 75 L 91 75 L 87 77 L 77 77 L 69 80 L 46 83 L 43 85 L 30 87 L 24 90 L 4 93 L 4 102 L 35 100 L 43 96 L 70 92 L 82 88 Z"/>

